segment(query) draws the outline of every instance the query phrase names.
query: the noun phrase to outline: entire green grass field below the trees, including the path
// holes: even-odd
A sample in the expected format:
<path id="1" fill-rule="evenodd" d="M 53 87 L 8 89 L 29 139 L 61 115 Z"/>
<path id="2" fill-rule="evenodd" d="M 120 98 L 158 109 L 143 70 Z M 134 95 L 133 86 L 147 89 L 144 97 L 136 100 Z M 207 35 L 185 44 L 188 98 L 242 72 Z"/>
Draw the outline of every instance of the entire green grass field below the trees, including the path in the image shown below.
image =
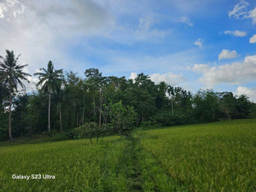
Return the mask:
<path id="1" fill-rule="evenodd" d="M 256 119 L 1 145 L 0 191 L 256 191 Z"/>

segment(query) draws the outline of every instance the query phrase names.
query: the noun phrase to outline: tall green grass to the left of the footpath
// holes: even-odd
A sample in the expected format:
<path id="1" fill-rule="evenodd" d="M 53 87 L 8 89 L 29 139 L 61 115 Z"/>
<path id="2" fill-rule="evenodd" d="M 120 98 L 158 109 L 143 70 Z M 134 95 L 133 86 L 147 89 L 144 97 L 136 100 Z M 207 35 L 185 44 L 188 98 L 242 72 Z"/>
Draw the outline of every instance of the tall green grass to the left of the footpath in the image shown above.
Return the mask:
<path id="1" fill-rule="evenodd" d="M 0 148 L 1 191 L 125 191 L 119 158 L 125 143 L 66 141 Z M 16 180 L 13 174 L 49 174 L 55 179 Z"/>

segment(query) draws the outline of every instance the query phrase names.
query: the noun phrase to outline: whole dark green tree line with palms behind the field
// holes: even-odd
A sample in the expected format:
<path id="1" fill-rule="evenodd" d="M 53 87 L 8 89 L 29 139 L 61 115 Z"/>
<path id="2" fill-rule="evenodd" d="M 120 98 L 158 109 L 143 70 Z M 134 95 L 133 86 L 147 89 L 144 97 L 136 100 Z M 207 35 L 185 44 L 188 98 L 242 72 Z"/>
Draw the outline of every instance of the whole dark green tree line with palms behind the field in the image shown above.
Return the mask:
<path id="1" fill-rule="evenodd" d="M 20 55 L 19 55 L 20 56 Z M 52 61 L 41 68 L 37 91 L 26 93 L 31 76 L 19 56 L 6 50 L 0 59 L 0 139 L 62 131 L 72 137 L 129 136 L 134 127 L 185 125 L 255 115 L 245 95 L 199 90 L 192 94 L 148 75 L 136 79 L 105 77 L 96 68 L 63 73 Z M 20 86 L 23 90 L 18 90 Z M 91 140 L 90 140 L 91 141 Z"/>

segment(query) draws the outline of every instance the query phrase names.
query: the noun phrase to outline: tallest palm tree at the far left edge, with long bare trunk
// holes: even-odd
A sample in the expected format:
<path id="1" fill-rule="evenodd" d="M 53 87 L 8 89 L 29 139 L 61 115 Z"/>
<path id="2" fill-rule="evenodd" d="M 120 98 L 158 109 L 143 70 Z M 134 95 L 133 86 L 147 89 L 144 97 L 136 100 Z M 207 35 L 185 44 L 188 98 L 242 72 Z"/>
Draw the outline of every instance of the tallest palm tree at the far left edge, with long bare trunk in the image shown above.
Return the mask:
<path id="1" fill-rule="evenodd" d="M 5 84 L 5 86 L 9 90 L 9 139 L 13 142 L 12 137 L 12 127 L 11 127 L 11 116 L 12 116 L 12 95 L 17 90 L 18 85 L 20 84 L 22 89 L 26 89 L 25 85 L 21 82 L 21 80 L 26 80 L 26 76 L 31 76 L 28 73 L 22 72 L 22 69 L 27 65 L 18 65 L 17 61 L 20 57 L 18 55 L 15 57 L 14 51 L 6 50 L 6 56 L 3 57 L 0 55 L 0 58 L 3 61 L 0 61 L 0 82 Z"/>

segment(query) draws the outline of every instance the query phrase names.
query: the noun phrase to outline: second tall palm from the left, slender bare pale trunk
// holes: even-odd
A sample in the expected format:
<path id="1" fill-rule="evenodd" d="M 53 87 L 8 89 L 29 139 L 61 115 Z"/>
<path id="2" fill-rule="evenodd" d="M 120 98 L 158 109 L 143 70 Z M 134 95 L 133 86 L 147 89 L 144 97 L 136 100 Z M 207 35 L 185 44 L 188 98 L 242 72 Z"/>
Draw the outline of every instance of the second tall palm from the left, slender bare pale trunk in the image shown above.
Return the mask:
<path id="1" fill-rule="evenodd" d="M 42 85 L 42 90 L 49 94 L 48 105 L 48 133 L 50 133 L 50 95 L 58 90 L 59 84 L 63 81 L 62 69 L 54 70 L 54 66 L 51 61 L 48 63 L 48 68 L 40 68 L 43 73 L 34 73 L 39 76 L 37 85 Z"/>

